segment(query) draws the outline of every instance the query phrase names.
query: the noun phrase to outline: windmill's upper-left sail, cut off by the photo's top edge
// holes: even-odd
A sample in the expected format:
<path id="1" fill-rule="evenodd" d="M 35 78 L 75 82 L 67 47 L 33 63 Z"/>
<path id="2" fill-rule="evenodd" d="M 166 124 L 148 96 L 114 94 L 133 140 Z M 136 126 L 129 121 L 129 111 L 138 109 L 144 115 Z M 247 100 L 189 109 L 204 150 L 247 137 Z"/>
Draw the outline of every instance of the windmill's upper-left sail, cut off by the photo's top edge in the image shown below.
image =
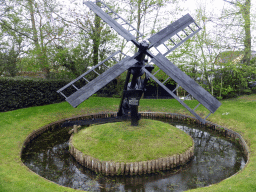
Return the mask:
<path id="1" fill-rule="evenodd" d="M 117 13 L 115 13 L 111 8 L 109 8 L 106 4 L 103 2 L 100 2 L 104 8 L 106 8 L 109 12 L 104 12 L 99 6 L 97 6 L 95 3 L 91 1 L 84 2 L 85 5 L 87 5 L 94 13 L 96 13 L 103 21 L 105 21 L 107 24 L 109 24 L 110 27 L 112 27 L 119 35 L 124 37 L 127 41 L 133 41 L 137 46 L 139 44 L 136 42 L 136 38 L 130 33 L 130 31 L 136 31 L 136 33 L 141 34 L 139 31 L 137 31 L 132 25 L 130 25 L 127 21 L 125 21 L 121 16 L 119 16 Z M 110 14 L 113 14 L 115 16 L 115 19 L 119 19 L 122 21 L 122 25 L 128 25 L 129 28 L 131 28 L 130 31 L 126 30 L 122 25 L 120 25 L 115 19 L 112 19 L 110 17 Z"/>

